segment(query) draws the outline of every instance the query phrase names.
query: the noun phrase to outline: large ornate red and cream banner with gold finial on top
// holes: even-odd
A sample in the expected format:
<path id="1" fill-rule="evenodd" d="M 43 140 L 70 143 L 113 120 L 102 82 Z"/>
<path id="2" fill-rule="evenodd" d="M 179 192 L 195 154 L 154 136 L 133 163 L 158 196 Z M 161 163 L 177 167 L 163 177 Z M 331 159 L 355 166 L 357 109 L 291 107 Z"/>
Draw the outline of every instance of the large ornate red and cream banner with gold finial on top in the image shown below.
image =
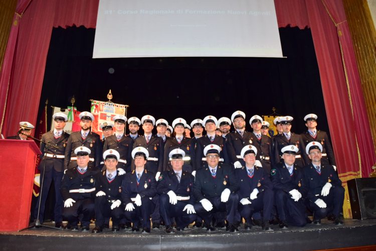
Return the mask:
<path id="1" fill-rule="evenodd" d="M 94 115 L 94 121 L 91 125 L 91 129 L 94 133 L 97 133 L 101 139 L 102 130 L 101 124 L 106 121 L 113 121 L 115 115 L 125 115 L 126 107 L 124 104 L 115 104 L 113 102 L 91 100 L 91 113 Z"/>

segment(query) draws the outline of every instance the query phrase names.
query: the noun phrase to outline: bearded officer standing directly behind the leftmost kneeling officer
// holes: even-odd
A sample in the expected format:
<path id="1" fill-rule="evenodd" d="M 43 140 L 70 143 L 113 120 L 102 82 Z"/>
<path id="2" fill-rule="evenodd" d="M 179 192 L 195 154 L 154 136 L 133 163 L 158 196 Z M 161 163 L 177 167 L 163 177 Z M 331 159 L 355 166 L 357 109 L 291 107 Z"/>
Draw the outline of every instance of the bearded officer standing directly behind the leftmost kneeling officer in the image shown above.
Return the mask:
<path id="1" fill-rule="evenodd" d="M 81 131 L 74 132 L 69 136 L 67 147 L 65 148 L 65 169 L 76 166 L 77 156 L 74 151 L 80 146 L 90 149 L 89 167 L 99 168 L 102 160 L 102 144 L 99 135 L 90 130 L 94 116 L 88 111 L 83 111 L 79 117 L 81 119 Z"/>

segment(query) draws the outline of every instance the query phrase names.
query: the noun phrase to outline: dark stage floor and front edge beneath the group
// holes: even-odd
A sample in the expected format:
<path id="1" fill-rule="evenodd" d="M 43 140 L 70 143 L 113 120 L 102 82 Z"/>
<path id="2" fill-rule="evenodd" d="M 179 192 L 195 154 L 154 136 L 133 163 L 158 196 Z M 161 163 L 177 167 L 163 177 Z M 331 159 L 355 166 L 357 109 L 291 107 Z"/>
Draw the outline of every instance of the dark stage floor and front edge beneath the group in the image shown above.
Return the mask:
<path id="1" fill-rule="evenodd" d="M 46 223 L 53 226 L 52 223 Z M 21 232 L 0 232 L 1 250 L 316 250 L 369 246 L 366 250 L 376 249 L 376 219 L 344 220 L 344 224 L 335 226 L 332 221 L 322 220 L 321 225 L 289 227 L 274 232 L 263 232 L 261 227 L 251 230 L 239 227 L 239 232 L 229 233 L 226 229 L 217 229 L 207 233 L 206 228 L 185 229 L 182 233 L 167 234 L 164 227 L 152 229 L 150 234 L 132 233 L 121 230 L 113 233 L 104 229 L 98 234 L 55 230 L 46 227 L 28 229 Z M 370 249 L 369 249 L 370 248 Z M 356 250 L 359 250 L 357 248 Z"/>

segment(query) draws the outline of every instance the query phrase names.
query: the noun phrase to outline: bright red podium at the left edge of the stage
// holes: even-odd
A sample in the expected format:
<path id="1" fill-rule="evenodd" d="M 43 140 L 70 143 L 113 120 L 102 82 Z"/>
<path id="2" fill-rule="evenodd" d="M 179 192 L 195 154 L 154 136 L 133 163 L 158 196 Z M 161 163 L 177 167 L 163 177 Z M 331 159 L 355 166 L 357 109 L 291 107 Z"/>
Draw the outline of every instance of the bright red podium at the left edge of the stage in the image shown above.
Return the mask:
<path id="1" fill-rule="evenodd" d="M 0 231 L 29 226 L 35 165 L 40 154 L 32 140 L 0 140 Z"/>

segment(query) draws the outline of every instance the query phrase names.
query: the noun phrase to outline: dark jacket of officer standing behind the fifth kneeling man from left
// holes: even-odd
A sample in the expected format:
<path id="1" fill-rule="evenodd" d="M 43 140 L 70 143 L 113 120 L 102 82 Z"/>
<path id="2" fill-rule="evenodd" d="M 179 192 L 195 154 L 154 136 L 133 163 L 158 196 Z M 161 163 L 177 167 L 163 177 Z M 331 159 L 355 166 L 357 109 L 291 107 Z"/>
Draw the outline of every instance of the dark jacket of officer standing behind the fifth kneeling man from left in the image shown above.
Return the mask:
<path id="1" fill-rule="evenodd" d="M 207 163 L 206 159 L 203 161 L 203 158 L 205 158 L 204 148 L 211 144 L 220 146 L 220 158 L 223 159 L 223 163 L 230 163 L 229 156 L 227 155 L 226 140 L 222 136 L 216 135 L 213 142 L 211 142 L 208 136 L 204 136 L 197 139 L 196 143 L 196 170 L 203 168 Z"/>

